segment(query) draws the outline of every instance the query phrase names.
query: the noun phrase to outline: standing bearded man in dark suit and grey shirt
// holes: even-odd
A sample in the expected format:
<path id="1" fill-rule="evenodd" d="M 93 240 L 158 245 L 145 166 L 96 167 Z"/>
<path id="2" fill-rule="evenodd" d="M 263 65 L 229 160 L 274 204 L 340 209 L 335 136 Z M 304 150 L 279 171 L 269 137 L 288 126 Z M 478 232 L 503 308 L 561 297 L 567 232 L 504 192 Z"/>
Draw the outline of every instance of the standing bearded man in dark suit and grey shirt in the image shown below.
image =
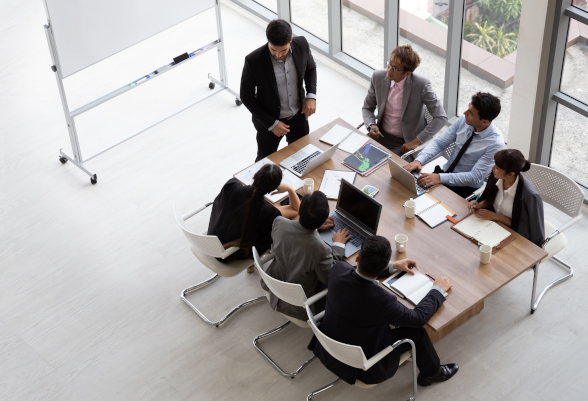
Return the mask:
<path id="1" fill-rule="evenodd" d="M 293 38 L 282 19 L 269 23 L 266 37 L 268 43 L 245 57 L 241 75 L 241 100 L 257 130 L 255 161 L 278 150 L 284 135 L 288 143 L 307 135 L 316 111 L 316 63 L 306 39 Z"/>

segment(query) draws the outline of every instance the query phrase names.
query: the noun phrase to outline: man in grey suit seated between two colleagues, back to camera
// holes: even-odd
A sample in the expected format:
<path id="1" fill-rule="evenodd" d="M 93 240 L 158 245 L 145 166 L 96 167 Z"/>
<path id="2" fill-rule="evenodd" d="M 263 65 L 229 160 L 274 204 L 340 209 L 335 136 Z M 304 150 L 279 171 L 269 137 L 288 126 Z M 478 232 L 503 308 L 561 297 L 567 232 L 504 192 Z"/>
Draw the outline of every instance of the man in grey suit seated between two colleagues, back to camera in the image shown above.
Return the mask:
<path id="1" fill-rule="evenodd" d="M 329 201 L 324 193 L 315 191 L 300 202 L 300 219 L 288 220 L 276 217 L 272 227 L 272 260 L 266 273 L 287 283 L 300 284 L 308 298 L 324 290 L 328 283 L 333 263 L 345 257 L 345 243 L 351 238 L 347 229 L 333 233 L 333 245 L 322 240 L 318 229 L 333 227 L 329 217 Z M 302 321 L 306 321 L 306 310 L 278 299 L 269 291 L 263 280 L 261 286 L 270 293 L 272 309 Z M 324 300 L 324 298 L 323 298 Z M 324 301 L 313 305 L 318 312 L 324 310 Z M 313 310 L 313 311 L 314 311 Z"/>

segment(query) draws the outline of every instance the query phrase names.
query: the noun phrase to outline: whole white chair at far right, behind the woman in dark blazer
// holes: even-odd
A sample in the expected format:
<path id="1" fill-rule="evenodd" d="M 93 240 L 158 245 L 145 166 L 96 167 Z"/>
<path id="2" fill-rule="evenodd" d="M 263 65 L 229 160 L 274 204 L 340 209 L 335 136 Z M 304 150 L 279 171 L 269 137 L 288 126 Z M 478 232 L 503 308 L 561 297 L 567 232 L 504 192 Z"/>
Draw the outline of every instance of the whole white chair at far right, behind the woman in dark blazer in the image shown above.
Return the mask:
<path id="1" fill-rule="evenodd" d="M 543 202 L 549 203 L 559 211 L 571 217 L 567 223 L 559 228 L 545 220 L 545 241 L 541 247 L 548 253 L 548 255 L 533 267 L 535 276 L 533 278 L 533 293 L 531 296 L 531 313 L 535 313 L 535 310 L 537 310 L 537 307 L 539 306 L 539 302 L 541 302 L 541 298 L 543 298 L 543 295 L 545 295 L 547 290 L 574 275 L 574 269 L 572 266 L 555 257 L 555 255 L 564 249 L 568 243 L 563 232 L 582 220 L 584 192 L 574 180 L 565 174 L 540 164 L 531 163 L 531 169 L 522 174 L 524 174 L 524 176 L 533 183 L 535 188 L 537 188 Z M 549 259 L 556 261 L 569 273 L 545 287 L 537 299 L 535 299 L 537 278 L 539 276 L 539 264 Z"/>

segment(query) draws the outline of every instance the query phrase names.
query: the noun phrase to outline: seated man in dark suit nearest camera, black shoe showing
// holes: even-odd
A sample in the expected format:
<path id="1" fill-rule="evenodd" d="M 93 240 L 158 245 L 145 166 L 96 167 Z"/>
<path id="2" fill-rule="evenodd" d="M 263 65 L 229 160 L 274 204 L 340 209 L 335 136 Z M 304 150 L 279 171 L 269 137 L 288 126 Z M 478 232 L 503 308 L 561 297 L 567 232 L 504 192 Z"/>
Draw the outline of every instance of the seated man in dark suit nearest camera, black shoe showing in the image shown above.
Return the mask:
<path id="1" fill-rule="evenodd" d="M 408 309 L 395 295 L 382 287 L 376 277 L 388 267 L 392 256 L 390 242 L 378 235 L 366 238 L 355 259 L 357 268 L 339 262 L 329 272 L 329 292 L 325 316 L 320 330 L 333 340 L 359 345 L 366 358 L 371 358 L 396 341 L 409 338 L 415 343 L 417 382 L 428 386 L 433 382 L 449 380 L 459 367 L 441 365 L 433 343 L 423 327 L 445 301 L 443 293 L 451 288 L 447 277 L 435 280 L 434 287 L 414 308 Z M 397 270 L 414 274 L 416 262 L 403 259 L 391 262 Z M 391 329 L 390 325 L 395 326 Z M 410 344 L 400 345 L 380 362 L 366 371 L 341 363 L 333 358 L 313 337 L 308 349 L 331 372 L 349 384 L 361 380 L 365 384 L 378 384 L 394 376 L 400 355 L 410 351 Z"/>

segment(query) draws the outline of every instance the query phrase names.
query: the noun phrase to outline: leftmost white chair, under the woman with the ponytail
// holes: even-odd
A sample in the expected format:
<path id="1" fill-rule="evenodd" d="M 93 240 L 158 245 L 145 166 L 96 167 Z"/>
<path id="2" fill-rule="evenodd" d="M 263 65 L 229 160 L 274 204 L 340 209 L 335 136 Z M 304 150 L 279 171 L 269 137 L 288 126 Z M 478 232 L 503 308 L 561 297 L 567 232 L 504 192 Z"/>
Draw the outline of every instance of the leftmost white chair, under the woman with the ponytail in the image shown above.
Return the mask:
<path id="1" fill-rule="evenodd" d="M 244 308 L 249 305 L 253 305 L 257 302 L 261 302 L 261 301 L 265 300 L 266 298 L 265 297 L 257 297 L 254 299 L 250 299 L 247 302 L 243 302 L 242 304 L 234 307 L 222 319 L 220 319 L 219 321 L 216 321 L 216 322 L 210 321 L 206 316 L 204 316 L 204 314 L 202 314 L 202 312 L 200 312 L 196 308 L 196 306 L 194 306 L 190 301 L 188 301 L 186 299 L 186 295 L 188 295 L 191 292 L 197 291 L 203 287 L 206 287 L 207 285 L 209 285 L 212 282 L 214 282 L 215 280 L 217 280 L 219 278 L 219 276 L 223 276 L 223 277 L 236 276 L 237 274 L 239 274 L 243 270 L 245 270 L 247 267 L 251 266 L 253 263 L 253 261 L 251 259 L 248 259 L 248 260 L 235 260 L 235 261 L 230 262 L 228 264 L 223 264 L 223 263 L 219 262 L 218 260 L 216 260 L 216 258 L 224 259 L 227 256 L 235 253 L 237 250 L 239 250 L 239 248 L 231 247 L 229 249 L 225 249 L 223 247 L 223 245 L 221 244 L 220 240 L 218 239 L 218 237 L 216 235 L 207 235 L 207 231 L 205 231 L 202 234 L 195 234 L 193 232 L 188 231 L 188 229 L 186 228 L 186 224 L 184 222 L 186 220 L 188 220 L 189 218 L 195 216 L 196 214 L 200 213 L 201 211 L 203 211 L 204 209 L 206 209 L 210 205 L 212 205 L 212 202 L 209 202 L 206 205 L 201 206 L 197 209 L 194 209 L 194 210 L 192 210 L 188 213 L 185 213 L 183 215 L 178 212 L 178 210 L 176 209 L 176 207 L 174 205 L 174 216 L 176 218 L 176 222 L 178 223 L 178 225 L 180 226 L 180 228 L 184 232 L 184 235 L 186 236 L 186 238 L 188 238 L 188 241 L 190 241 L 190 250 L 192 251 L 194 256 L 196 256 L 198 258 L 198 260 L 204 266 L 208 267 L 210 270 L 212 270 L 215 273 L 215 275 L 212 276 L 211 278 L 209 278 L 208 280 L 205 280 L 201 283 L 198 283 L 192 287 L 186 288 L 184 291 L 182 291 L 180 296 L 182 297 L 182 300 L 186 304 L 188 304 L 188 306 L 190 308 L 192 308 L 192 310 L 194 312 L 196 312 L 196 314 L 198 316 L 200 316 L 200 318 L 202 320 L 204 320 L 206 322 L 206 324 L 208 324 L 210 326 L 214 326 L 214 327 L 219 327 L 233 313 L 237 312 L 239 309 Z"/>

